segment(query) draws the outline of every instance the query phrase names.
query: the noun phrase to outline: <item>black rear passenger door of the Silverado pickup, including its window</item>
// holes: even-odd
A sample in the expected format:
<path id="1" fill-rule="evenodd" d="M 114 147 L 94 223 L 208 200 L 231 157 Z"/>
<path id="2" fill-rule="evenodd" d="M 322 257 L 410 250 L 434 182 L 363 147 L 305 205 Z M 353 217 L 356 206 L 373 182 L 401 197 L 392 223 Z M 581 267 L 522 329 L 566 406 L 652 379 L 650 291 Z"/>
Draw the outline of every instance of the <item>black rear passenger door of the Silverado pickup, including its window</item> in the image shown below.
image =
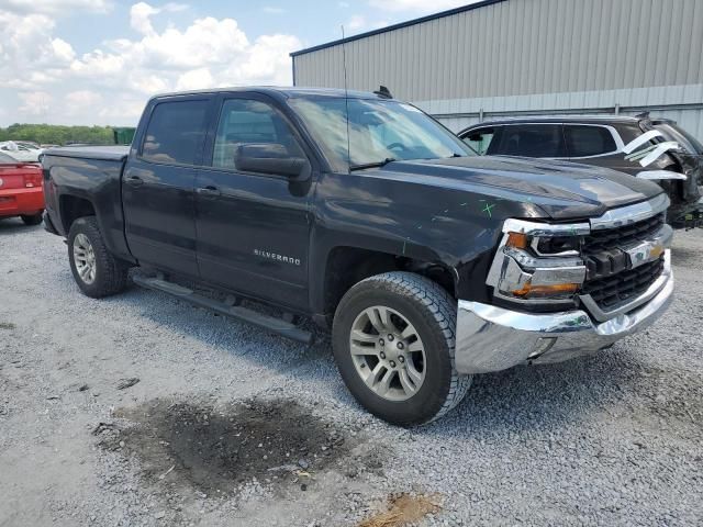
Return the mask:
<path id="1" fill-rule="evenodd" d="M 198 276 L 196 166 L 202 162 L 212 98 L 169 98 L 152 108 L 123 173 L 130 251 L 141 265 Z"/>

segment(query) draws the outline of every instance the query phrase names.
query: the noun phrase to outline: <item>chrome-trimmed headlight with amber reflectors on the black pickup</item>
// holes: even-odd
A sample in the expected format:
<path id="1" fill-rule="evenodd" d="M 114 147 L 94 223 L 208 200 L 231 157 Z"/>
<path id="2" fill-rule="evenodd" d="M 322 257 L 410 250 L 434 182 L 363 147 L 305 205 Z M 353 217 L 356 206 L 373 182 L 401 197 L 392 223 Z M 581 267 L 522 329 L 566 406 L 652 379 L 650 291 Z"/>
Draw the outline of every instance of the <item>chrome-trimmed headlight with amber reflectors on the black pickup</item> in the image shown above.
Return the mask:
<path id="1" fill-rule="evenodd" d="M 572 302 L 585 279 L 580 256 L 590 225 L 507 220 L 487 284 L 515 302 Z"/>

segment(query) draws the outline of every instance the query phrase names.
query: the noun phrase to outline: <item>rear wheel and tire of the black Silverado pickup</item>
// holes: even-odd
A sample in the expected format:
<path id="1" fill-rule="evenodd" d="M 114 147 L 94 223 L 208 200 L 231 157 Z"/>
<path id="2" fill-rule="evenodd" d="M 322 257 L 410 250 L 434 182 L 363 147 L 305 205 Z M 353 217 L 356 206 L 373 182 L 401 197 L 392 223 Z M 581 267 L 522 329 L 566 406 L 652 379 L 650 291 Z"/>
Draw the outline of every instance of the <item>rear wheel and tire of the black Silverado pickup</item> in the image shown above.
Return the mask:
<path id="1" fill-rule="evenodd" d="M 70 226 L 68 261 L 74 280 L 87 296 L 101 299 L 126 288 L 129 268 L 105 247 L 96 216 L 79 217 Z M 92 273 L 86 271 L 90 264 Z"/>

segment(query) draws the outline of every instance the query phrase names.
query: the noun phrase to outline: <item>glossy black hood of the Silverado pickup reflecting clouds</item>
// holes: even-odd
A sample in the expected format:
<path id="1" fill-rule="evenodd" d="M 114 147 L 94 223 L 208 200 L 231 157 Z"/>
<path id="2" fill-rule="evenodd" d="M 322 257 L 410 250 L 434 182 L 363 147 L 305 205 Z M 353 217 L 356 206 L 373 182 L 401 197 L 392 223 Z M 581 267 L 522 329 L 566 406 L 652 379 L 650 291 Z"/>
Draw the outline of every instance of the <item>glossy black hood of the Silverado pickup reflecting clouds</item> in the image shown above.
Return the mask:
<path id="1" fill-rule="evenodd" d="M 556 220 L 599 216 L 662 192 L 651 181 L 606 168 L 511 156 L 392 161 L 378 176 L 472 192 L 478 186 L 493 195 L 507 191 L 511 199 L 528 201 Z"/>

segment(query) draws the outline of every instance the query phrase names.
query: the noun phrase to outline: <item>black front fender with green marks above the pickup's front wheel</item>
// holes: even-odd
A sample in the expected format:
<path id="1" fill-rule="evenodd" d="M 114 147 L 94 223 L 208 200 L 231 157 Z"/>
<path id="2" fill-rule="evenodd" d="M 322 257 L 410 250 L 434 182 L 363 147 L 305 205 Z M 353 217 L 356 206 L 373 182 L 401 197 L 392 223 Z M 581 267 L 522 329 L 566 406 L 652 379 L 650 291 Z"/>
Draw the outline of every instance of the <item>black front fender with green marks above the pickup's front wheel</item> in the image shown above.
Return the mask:
<path id="1" fill-rule="evenodd" d="M 486 302 L 486 276 L 507 217 L 537 217 L 532 203 L 506 195 L 458 191 L 362 172 L 322 175 L 314 199 L 310 294 L 324 306 L 323 277 L 330 253 L 356 247 L 432 262 L 449 269 L 455 294 Z"/>

